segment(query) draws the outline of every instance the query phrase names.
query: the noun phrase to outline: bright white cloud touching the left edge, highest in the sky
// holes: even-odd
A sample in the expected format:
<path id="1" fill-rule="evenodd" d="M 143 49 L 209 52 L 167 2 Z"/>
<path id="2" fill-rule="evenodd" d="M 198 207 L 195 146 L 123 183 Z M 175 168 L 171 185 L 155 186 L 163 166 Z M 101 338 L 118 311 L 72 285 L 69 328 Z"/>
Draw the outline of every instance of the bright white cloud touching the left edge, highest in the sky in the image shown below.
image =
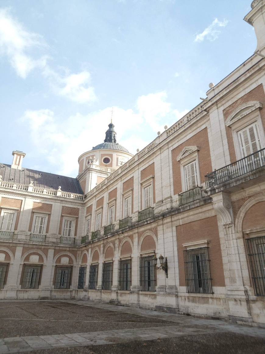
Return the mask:
<path id="1" fill-rule="evenodd" d="M 9 9 L 0 9 L 0 54 L 8 58 L 21 78 L 25 79 L 34 68 L 46 65 L 47 56 L 34 58 L 30 54 L 33 48 L 40 46 L 45 46 L 40 35 L 25 30 Z"/>

